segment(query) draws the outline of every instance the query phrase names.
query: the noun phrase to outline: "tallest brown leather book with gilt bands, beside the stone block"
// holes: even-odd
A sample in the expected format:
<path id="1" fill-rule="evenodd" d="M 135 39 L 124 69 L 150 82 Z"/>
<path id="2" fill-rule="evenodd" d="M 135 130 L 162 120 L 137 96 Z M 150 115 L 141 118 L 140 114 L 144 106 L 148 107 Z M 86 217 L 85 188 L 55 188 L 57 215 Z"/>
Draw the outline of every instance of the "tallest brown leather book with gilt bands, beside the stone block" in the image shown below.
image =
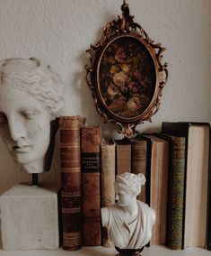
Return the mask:
<path id="1" fill-rule="evenodd" d="M 60 116 L 61 223 L 64 250 L 80 249 L 81 239 L 81 162 L 80 127 L 82 116 Z"/>

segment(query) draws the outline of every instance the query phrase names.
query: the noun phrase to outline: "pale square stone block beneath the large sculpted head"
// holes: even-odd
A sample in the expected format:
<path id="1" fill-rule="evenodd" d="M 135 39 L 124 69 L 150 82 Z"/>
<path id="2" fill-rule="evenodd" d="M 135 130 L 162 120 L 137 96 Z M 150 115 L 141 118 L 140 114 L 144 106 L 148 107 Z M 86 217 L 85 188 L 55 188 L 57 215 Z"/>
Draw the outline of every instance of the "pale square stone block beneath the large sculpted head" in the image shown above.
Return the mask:
<path id="1" fill-rule="evenodd" d="M 4 250 L 58 247 L 57 191 L 18 184 L 0 197 Z"/>

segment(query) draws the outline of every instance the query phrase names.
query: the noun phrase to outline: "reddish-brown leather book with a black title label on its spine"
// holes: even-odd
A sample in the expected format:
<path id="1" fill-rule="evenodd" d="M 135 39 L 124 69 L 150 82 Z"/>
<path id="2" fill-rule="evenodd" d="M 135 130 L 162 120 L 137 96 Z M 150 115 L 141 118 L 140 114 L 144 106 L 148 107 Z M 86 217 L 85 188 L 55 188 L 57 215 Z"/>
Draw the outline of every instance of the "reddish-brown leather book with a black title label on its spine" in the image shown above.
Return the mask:
<path id="1" fill-rule="evenodd" d="M 101 127 L 81 129 L 83 245 L 101 245 Z"/>

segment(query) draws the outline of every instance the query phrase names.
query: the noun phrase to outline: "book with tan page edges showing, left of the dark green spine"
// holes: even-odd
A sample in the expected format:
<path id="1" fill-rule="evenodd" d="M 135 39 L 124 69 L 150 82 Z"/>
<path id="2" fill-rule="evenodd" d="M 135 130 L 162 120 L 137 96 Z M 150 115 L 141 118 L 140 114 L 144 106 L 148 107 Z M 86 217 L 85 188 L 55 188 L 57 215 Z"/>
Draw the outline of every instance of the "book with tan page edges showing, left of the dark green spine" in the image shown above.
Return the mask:
<path id="1" fill-rule="evenodd" d="M 167 180 L 169 169 L 169 143 L 154 134 L 142 134 L 145 140 L 146 185 L 150 187 L 146 194 L 150 194 L 147 203 L 156 213 L 151 245 L 165 244 L 166 237 L 166 208 L 167 208 Z M 139 136 L 140 140 L 140 136 Z M 142 141 L 141 141 L 142 142 Z M 148 149 L 147 149 L 148 148 Z M 150 163 L 148 163 L 150 161 Z"/>

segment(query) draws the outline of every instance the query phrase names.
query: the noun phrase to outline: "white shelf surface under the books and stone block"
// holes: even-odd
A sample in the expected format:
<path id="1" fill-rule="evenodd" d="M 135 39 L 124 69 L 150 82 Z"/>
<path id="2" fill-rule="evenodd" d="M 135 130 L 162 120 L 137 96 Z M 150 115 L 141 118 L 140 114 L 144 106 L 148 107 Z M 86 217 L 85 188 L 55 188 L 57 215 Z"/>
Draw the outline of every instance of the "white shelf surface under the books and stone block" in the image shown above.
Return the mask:
<path id="1" fill-rule="evenodd" d="M 115 256 L 118 253 L 114 248 L 83 247 L 78 251 L 57 250 L 30 250 L 30 251 L 4 251 L 0 250 L 0 256 Z M 164 246 L 145 247 L 142 256 L 211 256 L 211 251 L 201 248 L 186 248 L 185 250 L 172 251 Z"/>

